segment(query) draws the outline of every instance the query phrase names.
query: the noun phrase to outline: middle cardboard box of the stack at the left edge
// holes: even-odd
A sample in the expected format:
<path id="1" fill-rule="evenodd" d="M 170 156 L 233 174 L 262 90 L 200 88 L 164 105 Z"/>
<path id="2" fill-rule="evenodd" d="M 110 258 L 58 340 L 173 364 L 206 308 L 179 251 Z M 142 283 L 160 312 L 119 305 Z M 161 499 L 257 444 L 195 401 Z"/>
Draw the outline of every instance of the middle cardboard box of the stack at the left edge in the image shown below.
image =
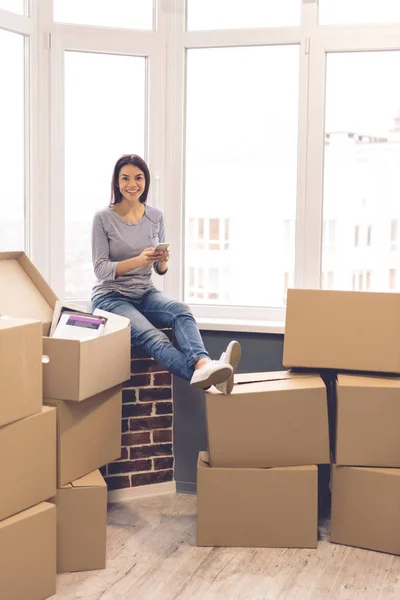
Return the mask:
<path id="1" fill-rule="evenodd" d="M 0 427 L 0 520 L 54 496 L 56 411 Z"/>

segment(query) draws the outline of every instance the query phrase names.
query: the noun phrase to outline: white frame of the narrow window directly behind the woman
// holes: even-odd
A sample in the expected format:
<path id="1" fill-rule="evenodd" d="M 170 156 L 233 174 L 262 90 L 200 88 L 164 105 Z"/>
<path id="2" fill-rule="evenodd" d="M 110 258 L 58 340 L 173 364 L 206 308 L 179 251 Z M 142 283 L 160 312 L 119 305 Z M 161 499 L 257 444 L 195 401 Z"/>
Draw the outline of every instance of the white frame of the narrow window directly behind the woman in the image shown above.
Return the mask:
<path id="1" fill-rule="evenodd" d="M 144 57 L 147 60 L 145 159 L 151 165 L 149 201 L 164 211 L 165 69 L 163 40 L 154 31 L 55 24 L 50 33 L 51 171 L 50 198 L 57 198 L 50 211 L 50 284 L 62 296 L 65 289 L 65 173 L 64 173 L 64 57 L 66 51 Z M 111 177 L 112 165 L 110 165 Z M 156 276 L 157 277 L 157 276 Z M 160 277 L 157 285 L 162 287 Z M 86 301 L 88 299 L 77 299 Z"/>

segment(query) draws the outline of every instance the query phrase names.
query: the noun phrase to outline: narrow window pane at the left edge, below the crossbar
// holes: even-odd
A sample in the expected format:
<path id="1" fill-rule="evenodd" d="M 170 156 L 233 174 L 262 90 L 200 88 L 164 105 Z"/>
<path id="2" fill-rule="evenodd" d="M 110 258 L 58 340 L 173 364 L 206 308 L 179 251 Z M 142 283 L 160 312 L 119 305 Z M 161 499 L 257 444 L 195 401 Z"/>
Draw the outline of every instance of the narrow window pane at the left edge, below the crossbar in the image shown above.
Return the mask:
<path id="1" fill-rule="evenodd" d="M 0 29 L 0 250 L 24 250 L 24 37 Z M 5 88 L 7 93 L 5 93 Z"/>

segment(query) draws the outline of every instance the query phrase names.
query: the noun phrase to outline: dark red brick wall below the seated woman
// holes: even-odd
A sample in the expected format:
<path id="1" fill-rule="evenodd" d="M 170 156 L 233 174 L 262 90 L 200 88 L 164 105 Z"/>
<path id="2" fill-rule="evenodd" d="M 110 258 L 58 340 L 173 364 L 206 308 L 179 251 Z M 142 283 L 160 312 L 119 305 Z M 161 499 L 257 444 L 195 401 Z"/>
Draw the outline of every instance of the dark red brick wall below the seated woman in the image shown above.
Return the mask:
<path id="1" fill-rule="evenodd" d="M 132 375 L 122 391 L 121 458 L 101 469 L 109 490 L 173 480 L 171 374 L 133 347 L 131 356 Z"/>

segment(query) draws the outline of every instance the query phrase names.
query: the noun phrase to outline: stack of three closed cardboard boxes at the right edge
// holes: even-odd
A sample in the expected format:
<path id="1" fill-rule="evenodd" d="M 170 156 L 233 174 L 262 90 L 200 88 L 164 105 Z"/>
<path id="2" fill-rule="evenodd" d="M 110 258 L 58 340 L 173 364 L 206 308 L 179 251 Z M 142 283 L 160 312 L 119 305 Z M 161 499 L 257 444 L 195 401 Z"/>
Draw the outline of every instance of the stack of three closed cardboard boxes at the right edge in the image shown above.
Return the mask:
<path id="1" fill-rule="evenodd" d="M 331 371 L 331 541 L 400 554 L 400 294 L 289 290 L 287 367 Z M 345 373 L 343 373 L 343 371 Z"/>

